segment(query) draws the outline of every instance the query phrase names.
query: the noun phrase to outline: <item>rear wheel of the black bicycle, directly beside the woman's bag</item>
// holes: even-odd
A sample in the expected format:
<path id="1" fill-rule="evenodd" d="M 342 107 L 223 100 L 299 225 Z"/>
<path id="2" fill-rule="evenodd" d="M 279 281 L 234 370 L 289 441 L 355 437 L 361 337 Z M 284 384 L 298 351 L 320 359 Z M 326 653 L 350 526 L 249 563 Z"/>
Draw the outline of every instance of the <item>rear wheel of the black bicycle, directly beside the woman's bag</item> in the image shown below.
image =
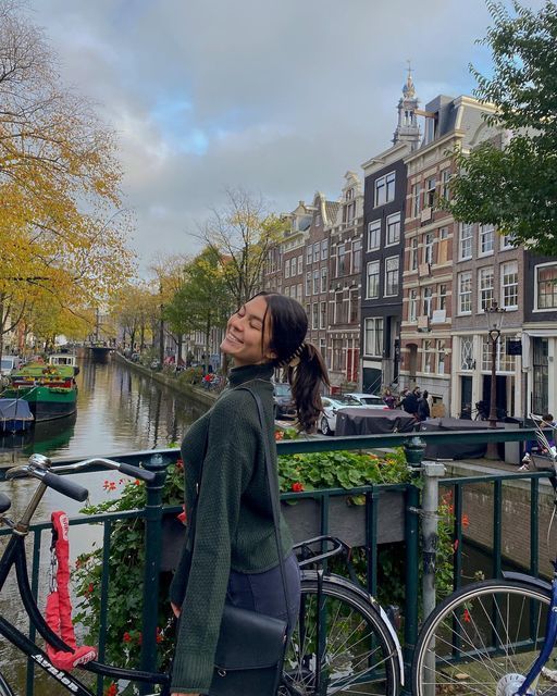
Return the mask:
<path id="1" fill-rule="evenodd" d="M 395 696 L 399 679 L 397 649 L 379 610 L 335 575 L 323 580 L 319 595 L 317 573 L 304 572 L 280 693 Z"/>

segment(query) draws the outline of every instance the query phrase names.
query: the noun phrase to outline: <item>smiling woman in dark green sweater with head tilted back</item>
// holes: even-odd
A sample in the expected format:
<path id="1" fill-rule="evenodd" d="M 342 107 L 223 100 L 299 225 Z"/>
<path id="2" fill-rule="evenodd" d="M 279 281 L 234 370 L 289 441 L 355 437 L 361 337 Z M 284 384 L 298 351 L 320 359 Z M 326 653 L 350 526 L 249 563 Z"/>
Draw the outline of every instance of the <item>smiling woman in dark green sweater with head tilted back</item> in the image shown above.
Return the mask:
<path id="1" fill-rule="evenodd" d="M 184 551 L 171 586 L 181 617 L 172 671 L 173 696 L 209 691 L 224 602 L 287 619 L 294 630 L 299 573 L 288 527 L 281 519 L 288 601 L 286 604 L 267 482 L 263 438 L 274 443 L 273 385 L 276 366 L 288 370 L 300 430 L 311 432 L 322 410 L 320 390 L 329 384 L 319 351 L 305 343 L 308 320 L 301 304 L 261 293 L 228 320 L 221 351 L 234 360 L 230 386 L 196 421 L 182 444 L 186 511 L 202 485 L 189 571 Z M 257 406 L 246 387 L 259 395 Z M 276 449 L 271 448 L 276 470 Z M 275 474 L 276 475 L 276 474 Z M 277 485 L 277 482 L 276 482 Z M 261 696 L 264 696 L 263 694 Z"/>

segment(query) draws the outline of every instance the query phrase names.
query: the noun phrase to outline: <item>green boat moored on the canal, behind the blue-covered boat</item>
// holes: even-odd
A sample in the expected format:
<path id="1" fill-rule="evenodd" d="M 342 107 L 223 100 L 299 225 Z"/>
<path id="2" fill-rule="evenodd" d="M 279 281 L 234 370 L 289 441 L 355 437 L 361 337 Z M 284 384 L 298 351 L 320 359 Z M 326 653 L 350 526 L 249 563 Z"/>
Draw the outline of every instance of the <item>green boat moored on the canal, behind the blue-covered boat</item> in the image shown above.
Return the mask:
<path id="1" fill-rule="evenodd" d="M 11 375 L 10 386 L 0 397 L 27 401 L 37 423 L 64 418 L 77 408 L 74 368 L 26 364 Z"/>

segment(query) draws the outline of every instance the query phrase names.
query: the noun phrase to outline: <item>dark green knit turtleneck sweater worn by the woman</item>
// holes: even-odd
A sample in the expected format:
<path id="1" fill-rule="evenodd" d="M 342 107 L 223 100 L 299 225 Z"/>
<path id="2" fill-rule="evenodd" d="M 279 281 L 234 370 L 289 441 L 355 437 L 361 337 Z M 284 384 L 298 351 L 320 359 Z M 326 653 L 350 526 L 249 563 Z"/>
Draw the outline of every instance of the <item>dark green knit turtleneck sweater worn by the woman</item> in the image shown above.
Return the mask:
<path id="1" fill-rule="evenodd" d="M 259 573 L 278 563 L 263 449 L 263 437 L 274 442 L 272 372 L 269 365 L 232 370 L 230 387 L 191 425 L 182 444 L 186 514 L 196 498 L 201 464 L 202 484 L 190 571 L 183 552 L 170 592 L 182 607 L 173 692 L 209 691 L 231 569 Z M 239 385 L 261 398 L 264 432 L 256 400 L 245 389 L 235 389 Z M 271 456 L 276 472 L 274 446 Z M 282 519 L 281 533 L 286 557 L 292 537 Z"/>

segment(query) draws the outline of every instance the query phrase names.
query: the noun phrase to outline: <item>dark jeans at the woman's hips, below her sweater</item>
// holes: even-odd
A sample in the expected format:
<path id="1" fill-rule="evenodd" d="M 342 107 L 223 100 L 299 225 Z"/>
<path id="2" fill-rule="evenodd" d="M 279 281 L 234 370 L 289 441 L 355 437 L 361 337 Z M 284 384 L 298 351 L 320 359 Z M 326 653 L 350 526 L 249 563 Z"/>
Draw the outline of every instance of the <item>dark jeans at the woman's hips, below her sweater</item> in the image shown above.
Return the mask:
<path id="1" fill-rule="evenodd" d="M 285 559 L 284 571 L 288 607 L 284 597 L 280 566 L 262 573 L 245 574 L 231 571 L 226 602 L 268 617 L 283 619 L 288 622 L 288 635 L 292 635 L 300 606 L 300 571 L 294 554 Z"/>

